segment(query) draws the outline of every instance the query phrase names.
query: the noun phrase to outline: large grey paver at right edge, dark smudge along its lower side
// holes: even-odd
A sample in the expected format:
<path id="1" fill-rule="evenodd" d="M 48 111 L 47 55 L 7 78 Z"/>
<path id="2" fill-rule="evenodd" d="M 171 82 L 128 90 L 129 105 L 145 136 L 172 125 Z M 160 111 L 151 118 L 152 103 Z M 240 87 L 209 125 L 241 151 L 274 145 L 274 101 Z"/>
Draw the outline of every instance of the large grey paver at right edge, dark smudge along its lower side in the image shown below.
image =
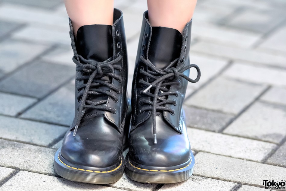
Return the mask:
<path id="1" fill-rule="evenodd" d="M 286 135 L 286 107 L 254 103 L 223 132 L 279 143 Z"/>

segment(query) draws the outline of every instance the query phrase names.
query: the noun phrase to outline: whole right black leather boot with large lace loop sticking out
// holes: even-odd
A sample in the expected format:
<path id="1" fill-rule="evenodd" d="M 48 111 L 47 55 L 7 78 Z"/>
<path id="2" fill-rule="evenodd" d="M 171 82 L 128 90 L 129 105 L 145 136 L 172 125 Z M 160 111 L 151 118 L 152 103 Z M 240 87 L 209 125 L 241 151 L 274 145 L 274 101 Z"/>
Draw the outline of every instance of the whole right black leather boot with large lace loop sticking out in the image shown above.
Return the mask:
<path id="1" fill-rule="evenodd" d="M 151 27 L 144 13 L 132 84 L 132 121 L 126 174 L 145 183 L 176 183 L 193 172 L 182 103 L 188 81 L 200 70 L 190 65 L 191 21 L 178 30 Z M 189 68 L 197 78 L 188 77 Z"/>

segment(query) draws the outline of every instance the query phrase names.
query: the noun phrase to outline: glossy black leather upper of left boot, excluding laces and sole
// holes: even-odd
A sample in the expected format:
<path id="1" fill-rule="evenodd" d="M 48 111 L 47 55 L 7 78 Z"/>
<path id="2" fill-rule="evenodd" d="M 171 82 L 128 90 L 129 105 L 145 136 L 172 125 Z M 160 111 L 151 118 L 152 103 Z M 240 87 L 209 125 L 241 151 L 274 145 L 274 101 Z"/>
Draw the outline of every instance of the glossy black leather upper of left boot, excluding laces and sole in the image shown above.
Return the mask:
<path id="1" fill-rule="evenodd" d="M 76 135 L 73 136 L 73 130 L 66 133 L 60 154 L 72 164 L 105 168 L 121 162 L 124 134 L 129 129 L 129 126 L 125 125 L 126 117 L 128 117 L 128 96 L 126 92 L 128 66 L 122 12 L 114 9 L 114 24 L 112 27 L 108 25 L 92 26 L 80 28 L 78 34 L 81 37 L 76 41 L 70 21 L 70 37 L 74 56 L 78 59 L 80 53 L 86 59 L 102 62 L 108 57 L 112 56 L 115 59 L 122 55 L 122 59 L 117 63 L 122 69 L 120 71 L 114 70 L 114 72 L 120 75 L 123 80 L 118 81 L 112 78 L 111 82 L 120 89 L 120 92 L 113 92 L 117 94 L 119 100 L 115 102 L 110 97 L 106 97 L 108 101 L 105 106 L 115 108 L 115 113 L 98 109 L 86 109 Z M 104 37 L 104 34 L 106 37 Z M 82 73 L 76 72 L 76 75 L 82 75 Z M 83 81 L 76 80 L 76 97 L 84 91 L 83 89 L 77 91 L 77 87 L 83 83 Z M 103 88 L 109 90 L 108 87 Z M 103 98 L 102 95 L 92 95 L 88 99 L 96 101 Z M 75 100 L 75 119 L 79 115 L 77 108 L 80 101 L 77 98 Z M 74 126 L 75 120 L 71 127 Z"/>

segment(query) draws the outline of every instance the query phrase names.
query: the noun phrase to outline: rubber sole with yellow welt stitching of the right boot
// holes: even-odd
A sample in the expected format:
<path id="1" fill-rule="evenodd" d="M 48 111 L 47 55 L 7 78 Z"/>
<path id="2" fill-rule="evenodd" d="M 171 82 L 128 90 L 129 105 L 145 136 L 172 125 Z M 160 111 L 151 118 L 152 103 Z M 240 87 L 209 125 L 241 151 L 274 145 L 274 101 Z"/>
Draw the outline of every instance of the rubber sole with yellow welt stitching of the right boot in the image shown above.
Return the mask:
<path id="1" fill-rule="evenodd" d="M 129 153 L 126 155 L 126 175 L 137 182 L 142 183 L 177 183 L 188 180 L 193 174 L 194 155 L 191 154 L 191 162 L 179 169 L 168 167 L 168 170 L 153 170 L 154 167 L 139 168 L 129 160 Z M 156 168 L 157 169 L 157 168 Z"/>

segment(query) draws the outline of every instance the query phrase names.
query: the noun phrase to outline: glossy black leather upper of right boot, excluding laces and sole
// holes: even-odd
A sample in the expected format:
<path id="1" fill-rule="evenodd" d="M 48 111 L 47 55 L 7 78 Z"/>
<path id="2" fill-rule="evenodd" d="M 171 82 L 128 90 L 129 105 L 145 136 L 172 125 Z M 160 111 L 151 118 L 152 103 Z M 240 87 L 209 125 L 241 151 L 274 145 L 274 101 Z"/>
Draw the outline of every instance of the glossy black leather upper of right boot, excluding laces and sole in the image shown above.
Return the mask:
<path id="1" fill-rule="evenodd" d="M 147 98 L 150 100 L 150 98 L 145 94 L 140 94 L 140 91 L 147 87 L 140 84 L 139 80 L 148 81 L 148 79 L 139 72 L 140 68 L 146 69 L 139 58 L 143 55 L 161 69 L 177 58 L 179 58 L 177 68 L 182 64 L 189 65 L 191 21 L 186 24 L 182 36 L 180 36 L 179 31 L 174 31 L 175 29 L 160 27 L 155 30 L 159 31 L 156 31 L 156 36 L 153 37 L 152 27 L 148 22 L 148 11 L 146 11 L 143 17 L 132 83 L 132 126 L 129 134 L 129 154 L 131 161 L 142 166 L 171 167 L 184 164 L 191 157 L 191 147 L 182 110 L 188 81 L 180 77 L 181 83 L 179 85 L 169 87 L 170 90 L 178 91 L 178 95 L 168 96 L 169 100 L 175 99 L 177 104 L 167 104 L 165 107 L 172 108 L 175 114 L 168 111 L 156 114 L 157 144 L 154 144 L 152 117 L 150 117 L 152 111 L 140 112 L 143 107 L 139 103 L 140 99 Z M 164 40 L 170 39 L 172 36 L 173 38 L 166 43 L 167 45 L 163 45 L 165 44 Z M 162 43 L 162 45 L 154 43 Z M 164 52 L 165 57 L 163 56 Z M 185 71 L 184 74 L 188 76 L 189 70 Z"/>

